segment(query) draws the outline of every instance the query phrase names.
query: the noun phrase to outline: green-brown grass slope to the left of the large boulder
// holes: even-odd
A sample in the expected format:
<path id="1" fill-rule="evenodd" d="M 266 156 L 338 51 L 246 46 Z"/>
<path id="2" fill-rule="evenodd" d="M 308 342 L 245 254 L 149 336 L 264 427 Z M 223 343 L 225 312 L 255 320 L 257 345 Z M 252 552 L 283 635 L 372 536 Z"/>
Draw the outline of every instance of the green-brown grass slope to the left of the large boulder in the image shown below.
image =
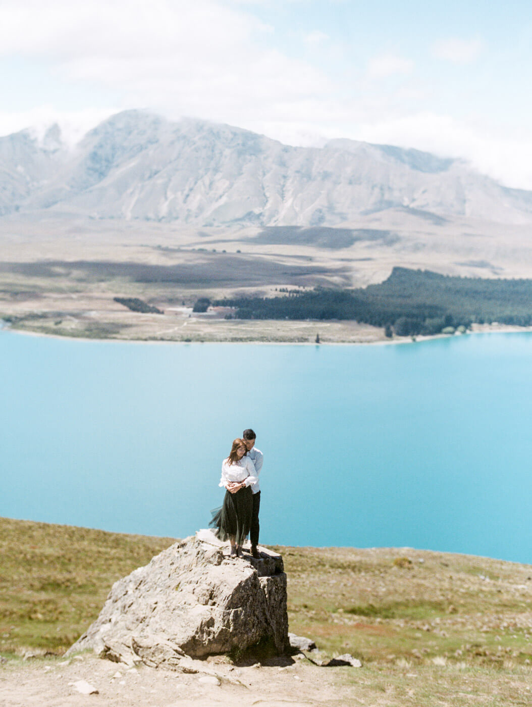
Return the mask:
<path id="1" fill-rule="evenodd" d="M 0 653 L 64 653 L 100 612 L 112 583 L 170 538 L 0 519 Z"/>

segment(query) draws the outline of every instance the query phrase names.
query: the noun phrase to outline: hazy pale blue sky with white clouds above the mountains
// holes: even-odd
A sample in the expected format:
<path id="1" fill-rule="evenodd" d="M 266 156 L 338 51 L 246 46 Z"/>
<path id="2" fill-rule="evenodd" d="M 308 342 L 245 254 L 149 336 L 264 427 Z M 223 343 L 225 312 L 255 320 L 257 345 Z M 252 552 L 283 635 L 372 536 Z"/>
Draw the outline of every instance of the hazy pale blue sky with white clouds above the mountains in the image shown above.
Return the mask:
<path id="1" fill-rule="evenodd" d="M 0 134 L 143 107 L 532 189 L 531 74 L 530 0 L 0 0 Z"/>

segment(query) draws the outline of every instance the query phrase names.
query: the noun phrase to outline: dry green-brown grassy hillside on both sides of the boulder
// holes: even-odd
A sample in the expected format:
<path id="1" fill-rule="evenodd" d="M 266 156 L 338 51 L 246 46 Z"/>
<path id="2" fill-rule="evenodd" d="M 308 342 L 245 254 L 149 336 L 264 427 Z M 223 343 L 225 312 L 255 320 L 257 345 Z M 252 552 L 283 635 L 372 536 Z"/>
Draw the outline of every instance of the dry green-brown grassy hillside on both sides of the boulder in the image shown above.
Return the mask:
<path id="1" fill-rule="evenodd" d="M 171 543 L 0 519 L 0 654 L 61 655 L 114 580 Z M 530 704 L 532 566 L 405 548 L 273 549 L 288 574 L 290 631 L 317 642 L 312 660 L 362 660 L 335 669 L 360 703 Z"/>

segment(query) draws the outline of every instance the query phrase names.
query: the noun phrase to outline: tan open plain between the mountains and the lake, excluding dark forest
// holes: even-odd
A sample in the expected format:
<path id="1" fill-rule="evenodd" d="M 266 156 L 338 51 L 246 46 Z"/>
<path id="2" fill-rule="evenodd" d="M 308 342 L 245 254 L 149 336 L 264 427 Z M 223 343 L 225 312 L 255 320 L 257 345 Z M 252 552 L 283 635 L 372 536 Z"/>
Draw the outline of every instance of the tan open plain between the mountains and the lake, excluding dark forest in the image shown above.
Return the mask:
<path id="1" fill-rule="evenodd" d="M 365 287 L 394 266 L 486 278 L 528 277 L 526 226 L 434 221 L 391 209 L 345 228 L 226 228 L 49 213 L 0 219 L 0 319 L 23 331 L 141 341 L 355 343 L 382 327 L 330 321 L 235 322 L 196 315 L 197 298 L 274 296 L 287 288 Z M 504 243 L 504 247 L 500 244 Z M 131 312 L 139 298 L 164 314 Z"/>

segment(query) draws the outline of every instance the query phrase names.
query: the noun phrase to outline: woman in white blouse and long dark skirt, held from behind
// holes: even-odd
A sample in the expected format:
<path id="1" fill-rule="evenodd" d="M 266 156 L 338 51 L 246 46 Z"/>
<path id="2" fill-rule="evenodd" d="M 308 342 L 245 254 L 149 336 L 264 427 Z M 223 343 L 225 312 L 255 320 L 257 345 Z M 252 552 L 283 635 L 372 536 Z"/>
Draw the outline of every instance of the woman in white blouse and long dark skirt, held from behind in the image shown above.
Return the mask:
<path id="1" fill-rule="evenodd" d="M 222 462 L 222 478 L 225 497 L 223 505 L 213 515 L 211 525 L 218 528 L 220 540 L 231 543 L 231 557 L 242 556 L 242 544 L 252 524 L 253 493 L 250 486 L 256 484 L 255 467 L 246 456 L 244 440 L 233 440 L 230 455 Z"/>

